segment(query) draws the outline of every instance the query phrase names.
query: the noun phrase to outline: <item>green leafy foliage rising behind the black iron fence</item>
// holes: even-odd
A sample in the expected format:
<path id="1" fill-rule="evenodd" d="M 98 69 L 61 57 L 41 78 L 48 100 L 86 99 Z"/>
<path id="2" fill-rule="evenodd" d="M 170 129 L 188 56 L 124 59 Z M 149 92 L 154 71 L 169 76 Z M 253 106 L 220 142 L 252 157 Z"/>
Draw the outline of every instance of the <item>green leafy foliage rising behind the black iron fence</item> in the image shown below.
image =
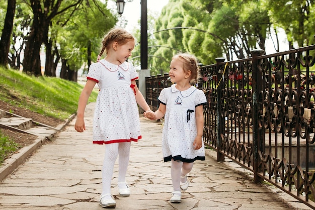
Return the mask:
<path id="1" fill-rule="evenodd" d="M 156 49 L 154 56 L 170 59 L 177 52 L 189 52 L 204 64 L 214 63 L 216 57 L 245 58 L 253 49 L 265 49 L 271 36 L 276 36 L 279 50 L 281 28 L 291 44 L 309 45 L 314 43 L 312 14 L 313 2 L 305 0 L 170 0 L 155 22 L 154 34 L 159 45 L 170 48 Z M 154 58 L 152 68 L 167 65 Z"/>

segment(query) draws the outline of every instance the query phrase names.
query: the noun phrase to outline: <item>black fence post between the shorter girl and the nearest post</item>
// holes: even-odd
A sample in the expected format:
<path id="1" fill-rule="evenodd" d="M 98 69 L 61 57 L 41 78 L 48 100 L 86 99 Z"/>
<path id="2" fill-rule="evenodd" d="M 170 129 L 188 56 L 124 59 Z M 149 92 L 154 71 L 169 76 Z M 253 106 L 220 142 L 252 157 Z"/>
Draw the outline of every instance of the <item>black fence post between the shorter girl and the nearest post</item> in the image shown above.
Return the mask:
<path id="1" fill-rule="evenodd" d="M 225 119 L 220 114 L 221 109 L 221 101 L 222 101 L 222 88 L 224 88 L 224 81 L 221 80 L 223 75 L 223 69 L 220 69 L 219 63 L 223 62 L 225 58 L 223 57 L 217 57 L 215 58 L 216 61 L 216 75 L 217 75 L 217 82 L 219 84 L 216 84 L 216 92 L 217 92 L 217 106 L 216 106 L 216 130 L 217 130 L 217 139 L 216 139 L 216 146 L 217 146 L 217 160 L 218 162 L 224 162 L 224 155 L 220 152 L 221 151 L 221 133 L 224 133 L 224 125 L 225 125 Z M 221 71 L 220 71 L 221 70 Z M 224 77 L 224 76 L 223 76 Z"/>

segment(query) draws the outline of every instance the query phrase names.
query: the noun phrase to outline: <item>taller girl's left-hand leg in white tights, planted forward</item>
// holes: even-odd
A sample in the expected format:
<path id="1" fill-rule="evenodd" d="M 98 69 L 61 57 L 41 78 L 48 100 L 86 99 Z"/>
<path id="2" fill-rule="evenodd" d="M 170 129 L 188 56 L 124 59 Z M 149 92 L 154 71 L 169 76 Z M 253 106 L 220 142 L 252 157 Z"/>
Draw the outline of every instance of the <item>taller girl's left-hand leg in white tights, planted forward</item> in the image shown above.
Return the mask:
<path id="1" fill-rule="evenodd" d="M 105 199 L 111 196 L 111 181 L 113 177 L 114 165 L 118 156 L 118 144 L 108 144 L 105 146 L 105 157 L 102 168 L 102 195 L 106 195 Z"/>

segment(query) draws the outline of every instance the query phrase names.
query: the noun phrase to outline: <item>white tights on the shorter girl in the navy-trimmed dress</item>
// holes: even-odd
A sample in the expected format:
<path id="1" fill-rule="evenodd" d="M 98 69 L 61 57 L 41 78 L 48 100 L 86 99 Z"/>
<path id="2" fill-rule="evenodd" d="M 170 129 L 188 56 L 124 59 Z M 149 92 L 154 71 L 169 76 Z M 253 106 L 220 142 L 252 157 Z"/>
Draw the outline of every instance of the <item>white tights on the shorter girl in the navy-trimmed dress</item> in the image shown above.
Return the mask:
<path id="1" fill-rule="evenodd" d="M 182 161 L 174 161 L 172 159 L 171 165 L 171 177 L 173 183 L 173 191 L 181 191 L 180 182 L 186 182 L 186 177 L 181 178 L 181 176 L 185 176 L 188 174 L 192 168 L 194 163 L 184 163 Z"/>

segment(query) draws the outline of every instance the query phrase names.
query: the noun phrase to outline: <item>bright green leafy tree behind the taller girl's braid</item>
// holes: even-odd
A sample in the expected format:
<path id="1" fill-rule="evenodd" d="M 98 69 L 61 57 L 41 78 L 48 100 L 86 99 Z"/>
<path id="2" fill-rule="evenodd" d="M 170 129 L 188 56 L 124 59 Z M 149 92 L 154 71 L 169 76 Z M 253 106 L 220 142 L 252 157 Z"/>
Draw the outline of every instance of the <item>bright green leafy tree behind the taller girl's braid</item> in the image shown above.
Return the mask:
<path id="1" fill-rule="evenodd" d="M 59 53 L 63 63 L 60 77 L 63 79 L 72 80 L 72 76 L 69 75 L 76 77 L 78 69 L 83 64 L 87 64 L 85 70 L 89 69 L 102 47 L 104 34 L 117 22 L 117 17 L 111 14 L 106 4 L 100 1 L 94 1 L 94 4 L 88 3 L 84 2 L 67 25 L 56 28 L 57 43 L 60 46 Z"/>

